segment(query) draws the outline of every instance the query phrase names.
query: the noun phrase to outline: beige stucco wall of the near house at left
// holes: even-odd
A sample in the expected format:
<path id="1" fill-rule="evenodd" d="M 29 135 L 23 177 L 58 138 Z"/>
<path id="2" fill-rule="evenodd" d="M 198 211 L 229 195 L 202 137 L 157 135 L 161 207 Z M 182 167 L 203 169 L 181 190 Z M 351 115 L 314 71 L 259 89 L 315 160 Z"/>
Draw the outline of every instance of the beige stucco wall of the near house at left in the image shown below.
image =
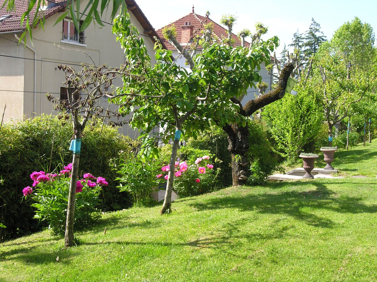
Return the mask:
<path id="1" fill-rule="evenodd" d="M 82 2 L 81 6 L 86 6 L 87 0 Z M 111 11 L 111 8 L 109 8 Z M 92 64 L 92 60 L 85 56 L 79 50 L 89 55 L 95 65 L 106 64 L 109 67 L 119 67 L 124 63 L 124 50 L 121 49 L 120 43 L 115 41 L 116 36 L 112 34 L 111 25 L 106 24 L 104 27 L 91 24 L 85 31 L 85 44 L 63 40 L 63 22 L 55 22 L 60 17 L 60 13 L 52 15 L 46 19 L 44 31 L 42 29 L 33 30 L 33 45 L 31 46 L 37 53 L 37 71 L 36 75 L 36 108 L 34 109 L 34 52 L 23 44 L 17 45 L 18 40 L 14 34 L 3 34 L 0 37 L 0 55 L 7 55 L 18 58 L 0 56 L 0 111 L 2 114 L 4 105 L 6 111 L 4 121 L 20 120 L 40 114 L 57 114 L 53 111 L 53 104 L 48 101 L 46 93 L 60 98 L 60 87 L 64 79 L 63 71 L 58 70 L 58 64 L 76 65 L 77 70 L 80 64 Z M 143 27 L 139 24 L 133 14 L 130 12 L 131 23 L 136 26 L 141 33 L 142 38 L 147 46 L 149 54 L 154 58 L 154 42 L 148 36 L 143 36 Z M 104 21 L 111 23 L 109 18 Z M 18 34 L 20 36 L 20 34 Z M 28 35 L 25 36 L 28 38 Z M 28 42 L 29 43 L 29 42 Z M 59 47 L 66 49 L 63 50 Z M 68 50 L 69 49 L 69 50 Z M 73 50 L 75 49 L 75 50 Z M 119 79 L 115 85 L 122 85 Z M 3 91 L 3 90 L 12 90 Z M 16 92 L 13 92 L 16 91 Z M 107 108 L 107 99 L 100 101 L 101 105 Z M 115 105 L 110 105 L 115 108 Z M 124 117 L 128 120 L 130 117 Z M 135 131 L 125 125 L 119 129 L 123 134 L 135 136 Z"/>

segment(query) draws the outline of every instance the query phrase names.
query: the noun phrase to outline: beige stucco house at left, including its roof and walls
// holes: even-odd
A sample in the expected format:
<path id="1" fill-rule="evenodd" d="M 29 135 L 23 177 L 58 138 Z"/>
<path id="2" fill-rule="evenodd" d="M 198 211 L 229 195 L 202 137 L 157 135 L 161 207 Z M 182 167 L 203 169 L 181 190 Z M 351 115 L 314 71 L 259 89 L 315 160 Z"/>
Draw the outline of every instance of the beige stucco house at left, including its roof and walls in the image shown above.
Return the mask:
<path id="1" fill-rule="evenodd" d="M 119 67 L 123 64 L 124 51 L 111 32 L 109 17 L 104 18 L 104 27 L 92 23 L 81 33 L 77 32 L 69 18 L 55 24 L 65 9 L 65 0 L 49 0 L 49 5 L 43 8 L 46 18 L 44 30 L 34 29 L 32 43 L 28 40 L 26 46 L 23 43 L 18 45 L 19 36 L 25 29 L 25 26 L 20 27 L 20 17 L 28 2 L 15 2 L 16 11 L 0 10 L 0 116 L 6 105 L 4 122 L 43 113 L 56 114 L 46 93 L 61 98 L 64 73 L 58 70 L 58 64 L 74 65 L 75 68 L 80 68 L 82 62 L 92 64 L 90 58 L 75 50 L 88 54 L 97 66 L 107 64 L 109 67 Z M 134 0 L 125 2 L 131 23 L 138 28 L 149 54 L 153 55 L 153 36 L 158 36 L 157 33 Z M 0 0 L 0 7 L 3 3 L 4 0 Z M 87 0 L 81 0 L 81 7 L 85 7 L 86 3 Z M 100 103 L 108 105 L 107 99 Z M 124 120 L 128 119 L 124 117 Z M 120 131 L 130 136 L 136 133 L 128 125 Z"/>

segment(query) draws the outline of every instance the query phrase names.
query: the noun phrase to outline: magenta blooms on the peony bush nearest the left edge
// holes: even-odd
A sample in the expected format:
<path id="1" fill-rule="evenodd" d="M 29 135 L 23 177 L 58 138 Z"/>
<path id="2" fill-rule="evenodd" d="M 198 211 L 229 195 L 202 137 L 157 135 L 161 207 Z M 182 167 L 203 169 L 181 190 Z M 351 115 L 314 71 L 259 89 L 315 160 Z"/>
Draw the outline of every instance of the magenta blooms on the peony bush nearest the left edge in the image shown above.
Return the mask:
<path id="1" fill-rule="evenodd" d="M 63 168 L 64 169 L 60 171 L 59 176 L 70 177 L 70 173 L 72 172 L 72 164 L 69 164 Z M 30 174 L 30 178 L 34 180 L 32 184 L 33 187 L 37 186 L 39 183 L 49 183 L 58 180 L 57 177 L 58 174 L 56 173 L 45 173 L 44 171 L 34 171 L 32 174 Z M 109 184 L 104 177 L 95 177 L 90 173 L 85 173 L 83 175 L 83 179 L 77 180 L 76 182 L 76 193 L 83 191 L 84 183 L 91 188 L 95 187 L 96 185 L 107 186 Z M 26 197 L 33 193 L 33 188 L 27 186 L 22 190 L 22 193 Z"/>

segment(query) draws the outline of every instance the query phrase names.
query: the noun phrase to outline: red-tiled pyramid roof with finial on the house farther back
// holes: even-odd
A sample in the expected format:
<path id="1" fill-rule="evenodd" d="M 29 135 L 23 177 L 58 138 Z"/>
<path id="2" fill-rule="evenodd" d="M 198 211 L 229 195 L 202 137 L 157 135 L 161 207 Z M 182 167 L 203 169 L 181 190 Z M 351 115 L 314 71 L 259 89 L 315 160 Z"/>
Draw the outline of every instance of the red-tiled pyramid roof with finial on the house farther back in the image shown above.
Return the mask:
<path id="1" fill-rule="evenodd" d="M 201 15 L 195 14 L 194 9 L 192 9 L 192 12 L 179 20 L 176 20 L 173 23 L 168 24 L 167 26 L 162 27 L 161 29 L 156 30 L 157 34 L 159 35 L 159 38 L 161 38 L 161 42 L 164 43 L 166 48 L 168 50 L 176 50 L 176 48 L 169 43 L 168 40 L 164 39 L 164 36 L 162 35 L 162 30 L 165 27 L 170 27 L 172 25 L 176 28 L 176 39 L 179 43 L 182 43 L 182 26 L 187 25 L 187 23 L 190 23 L 191 26 L 193 26 L 193 33 L 199 34 L 204 24 L 212 24 L 212 32 L 218 37 L 218 38 L 228 38 L 228 30 L 219 25 L 218 23 L 215 23 L 213 20 L 211 20 L 208 17 L 203 17 Z M 232 39 L 233 39 L 233 45 L 234 46 L 241 46 L 241 39 L 238 38 L 237 35 L 232 33 Z M 250 44 L 248 42 L 245 42 L 245 46 L 248 47 Z"/>

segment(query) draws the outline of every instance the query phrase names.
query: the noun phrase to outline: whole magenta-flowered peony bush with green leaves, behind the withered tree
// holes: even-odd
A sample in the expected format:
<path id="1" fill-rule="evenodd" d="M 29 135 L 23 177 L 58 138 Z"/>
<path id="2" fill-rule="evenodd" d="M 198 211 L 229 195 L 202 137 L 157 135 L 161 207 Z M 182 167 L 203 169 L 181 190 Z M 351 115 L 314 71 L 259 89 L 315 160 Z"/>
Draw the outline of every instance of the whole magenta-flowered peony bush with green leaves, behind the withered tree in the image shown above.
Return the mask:
<path id="1" fill-rule="evenodd" d="M 24 198 L 36 208 L 34 218 L 45 220 L 55 233 L 64 232 L 67 217 L 67 203 L 72 164 L 66 165 L 60 173 L 34 171 L 30 174 L 32 186 L 22 190 Z M 100 202 L 102 186 L 108 183 L 104 177 L 85 173 L 76 182 L 75 226 L 85 226 L 100 216 L 95 208 Z"/>

